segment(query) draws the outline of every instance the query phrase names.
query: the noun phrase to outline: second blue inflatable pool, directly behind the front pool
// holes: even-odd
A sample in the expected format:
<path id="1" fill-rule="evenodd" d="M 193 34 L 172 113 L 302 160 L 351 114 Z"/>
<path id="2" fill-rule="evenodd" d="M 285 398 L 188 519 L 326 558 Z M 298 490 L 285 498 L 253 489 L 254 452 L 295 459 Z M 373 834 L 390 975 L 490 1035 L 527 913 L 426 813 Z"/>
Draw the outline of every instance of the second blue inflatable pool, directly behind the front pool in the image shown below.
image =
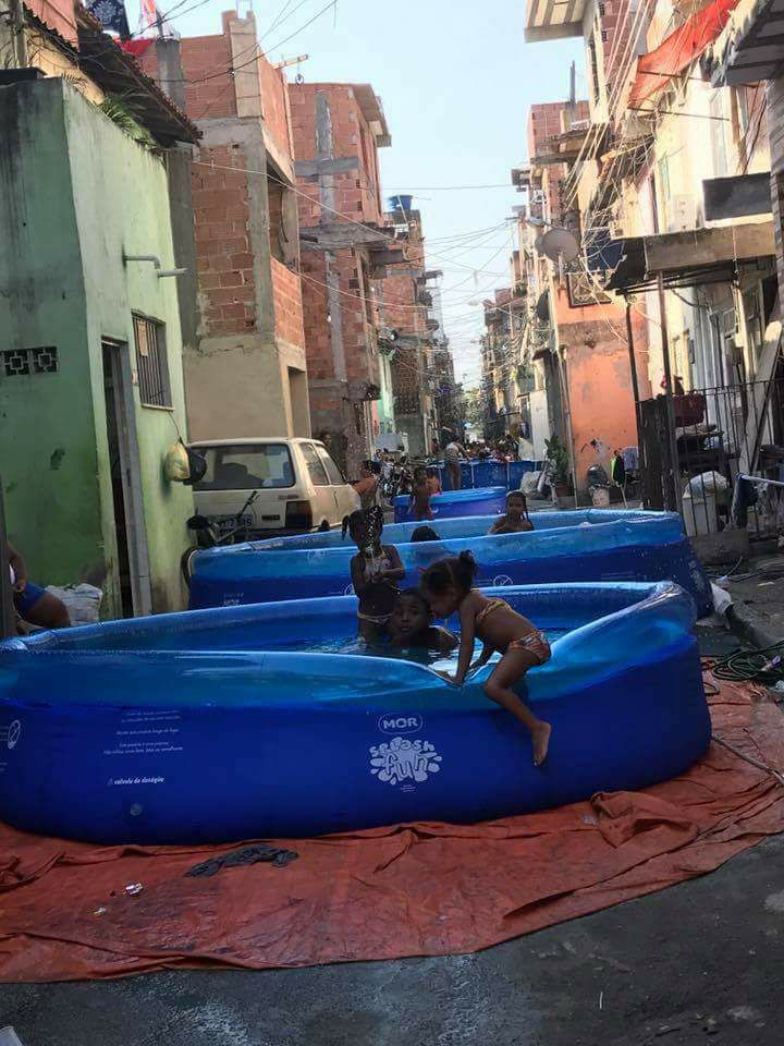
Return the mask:
<path id="1" fill-rule="evenodd" d="M 494 519 L 437 518 L 429 525 L 442 540 L 420 544 L 411 544 L 420 524 L 393 524 L 384 527 L 382 540 L 397 546 L 405 585 L 418 585 L 420 569 L 433 560 L 470 548 L 480 585 L 675 581 L 700 615 L 712 610 L 710 583 L 675 512 L 535 512 L 532 533 L 488 536 Z M 191 607 L 344 595 L 352 591 L 348 564 L 355 554 L 351 538 L 338 531 L 207 549 L 195 557 Z"/>

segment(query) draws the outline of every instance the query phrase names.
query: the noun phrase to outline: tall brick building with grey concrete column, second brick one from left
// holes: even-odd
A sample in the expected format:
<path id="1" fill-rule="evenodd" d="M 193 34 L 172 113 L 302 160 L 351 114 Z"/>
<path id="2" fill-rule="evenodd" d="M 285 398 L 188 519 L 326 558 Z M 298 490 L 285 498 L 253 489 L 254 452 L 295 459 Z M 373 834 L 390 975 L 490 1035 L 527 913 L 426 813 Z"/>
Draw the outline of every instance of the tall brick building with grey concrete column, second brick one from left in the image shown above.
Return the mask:
<path id="1" fill-rule="evenodd" d="M 380 367 L 377 281 L 400 258 L 382 228 L 378 149 L 391 144 L 367 84 L 290 87 L 314 434 L 350 476 L 373 450 Z"/>

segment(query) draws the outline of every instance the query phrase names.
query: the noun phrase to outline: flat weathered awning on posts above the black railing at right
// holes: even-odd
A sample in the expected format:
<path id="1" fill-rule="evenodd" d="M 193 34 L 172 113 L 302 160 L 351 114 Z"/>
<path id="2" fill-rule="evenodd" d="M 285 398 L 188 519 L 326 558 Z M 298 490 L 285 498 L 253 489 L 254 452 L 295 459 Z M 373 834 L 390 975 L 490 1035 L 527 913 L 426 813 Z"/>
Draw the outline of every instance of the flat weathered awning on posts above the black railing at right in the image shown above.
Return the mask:
<path id="1" fill-rule="evenodd" d="M 623 294 L 665 288 L 730 283 L 743 265 L 775 256 L 773 222 L 691 229 L 621 241 L 621 260 L 604 284 Z"/>

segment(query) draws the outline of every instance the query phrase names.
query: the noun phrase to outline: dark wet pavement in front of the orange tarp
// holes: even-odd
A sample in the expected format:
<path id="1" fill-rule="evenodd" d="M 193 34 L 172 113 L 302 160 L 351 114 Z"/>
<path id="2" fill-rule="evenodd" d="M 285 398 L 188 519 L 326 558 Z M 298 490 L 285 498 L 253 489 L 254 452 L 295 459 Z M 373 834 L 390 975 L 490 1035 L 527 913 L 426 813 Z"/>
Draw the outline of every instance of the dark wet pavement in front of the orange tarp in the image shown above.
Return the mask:
<path id="1" fill-rule="evenodd" d="M 2 985 L 0 1015 L 24 1046 L 780 1046 L 782 867 L 777 837 L 476 956 Z"/>

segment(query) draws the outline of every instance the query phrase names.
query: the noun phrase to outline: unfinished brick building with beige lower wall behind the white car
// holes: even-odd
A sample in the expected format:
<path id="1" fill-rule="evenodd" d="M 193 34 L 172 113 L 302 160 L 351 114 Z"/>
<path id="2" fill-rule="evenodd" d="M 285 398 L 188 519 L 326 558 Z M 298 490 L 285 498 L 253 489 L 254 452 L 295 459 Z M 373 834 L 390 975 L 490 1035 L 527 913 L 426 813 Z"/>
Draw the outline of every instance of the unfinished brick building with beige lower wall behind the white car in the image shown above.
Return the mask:
<path id="1" fill-rule="evenodd" d="M 252 56 L 252 58 L 248 58 Z M 253 14 L 151 40 L 145 70 L 201 132 L 172 168 L 191 438 L 308 436 L 287 85 Z M 194 235 L 195 233 L 195 235 Z"/>

